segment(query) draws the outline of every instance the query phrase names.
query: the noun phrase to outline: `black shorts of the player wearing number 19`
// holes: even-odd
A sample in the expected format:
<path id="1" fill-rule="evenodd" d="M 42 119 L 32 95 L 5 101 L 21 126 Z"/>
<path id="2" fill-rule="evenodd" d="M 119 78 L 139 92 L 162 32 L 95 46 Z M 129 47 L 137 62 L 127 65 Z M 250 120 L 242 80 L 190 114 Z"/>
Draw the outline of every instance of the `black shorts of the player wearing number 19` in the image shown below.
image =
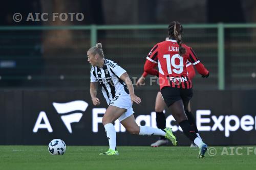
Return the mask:
<path id="1" fill-rule="evenodd" d="M 183 103 L 188 103 L 189 100 L 193 96 L 193 90 L 190 89 L 182 89 L 177 87 L 163 87 L 161 89 L 161 94 L 163 96 L 163 100 L 167 107 L 174 104 L 176 101 L 182 100 Z"/>

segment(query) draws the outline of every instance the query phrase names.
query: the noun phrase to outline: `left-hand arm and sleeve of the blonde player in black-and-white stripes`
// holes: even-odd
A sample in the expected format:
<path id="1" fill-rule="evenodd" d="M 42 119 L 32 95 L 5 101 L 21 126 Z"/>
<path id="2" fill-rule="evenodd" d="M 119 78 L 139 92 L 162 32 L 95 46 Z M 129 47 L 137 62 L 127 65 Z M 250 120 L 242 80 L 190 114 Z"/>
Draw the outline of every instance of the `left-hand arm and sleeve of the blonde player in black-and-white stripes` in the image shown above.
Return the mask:
<path id="1" fill-rule="evenodd" d="M 96 97 L 97 96 L 97 78 L 95 77 L 95 75 L 93 74 L 93 68 L 91 70 L 91 84 L 90 84 L 90 94 L 91 94 L 91 98 L 92 98 L 92 102 L 94 106 L 97 106 L 100 104 L 99 99 Z"/>

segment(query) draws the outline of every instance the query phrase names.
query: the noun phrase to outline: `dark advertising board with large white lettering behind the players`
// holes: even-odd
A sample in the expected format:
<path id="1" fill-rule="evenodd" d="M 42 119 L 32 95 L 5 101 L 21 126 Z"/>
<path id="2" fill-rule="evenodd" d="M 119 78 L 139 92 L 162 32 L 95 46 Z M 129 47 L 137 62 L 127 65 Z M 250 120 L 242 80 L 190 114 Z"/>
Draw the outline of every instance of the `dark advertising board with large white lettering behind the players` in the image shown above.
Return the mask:
<path id="1" fill-rule="evenodd" d="M 142 103 L 133 108 L 136 120 L 141 120 L 140 125 L 156 125 L 152 113 L 156 93 L 143 90 L 137 92 Z M 0 94 L 0 144 L 48 144 L 54 138 L 61 138 L 68 145 L 108 145 L 100 118 L 93 118 L 93 112 L 101 108 L 103 113 L 106 108 L 101 95 L 102 105 L 95 107 L 91 103 L 89 91 L 82 90 L 2 90 Z M 256 113 L 252 108 L 255 94 L 255 90 L 195 91 L 191 105 L 197 114 L 198 128 L 204 141 L 210 145 L 255 144 Z M 57 108 L 53 102 L 66 104 Z M 37 122 L 39 115 L 43 118 Z M 98 117 L 102 115 L 98 114 Z M 168 111 L 166 117 L 167 126 L 173 126 L 176 131 L 176 123 L 170 124 L 172 116 Z M 37 131 L 36 122 L 41 126 Z M 120 127 L 116 130 L 118 145 L 149 145 L 158 138 L 130 135 L 120 132 L 123 130 Z M 180 131 L 175 134 L 180 145 L 190 143 Z"/>

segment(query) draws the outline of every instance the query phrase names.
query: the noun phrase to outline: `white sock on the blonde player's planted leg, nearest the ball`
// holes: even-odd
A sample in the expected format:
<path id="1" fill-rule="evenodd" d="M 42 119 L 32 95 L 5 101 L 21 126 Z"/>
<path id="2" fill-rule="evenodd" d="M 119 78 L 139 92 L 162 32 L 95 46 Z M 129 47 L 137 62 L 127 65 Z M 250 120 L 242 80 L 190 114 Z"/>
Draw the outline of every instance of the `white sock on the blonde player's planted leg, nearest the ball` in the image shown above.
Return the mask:
<path id="1" fill-rule="evenodd" d="M 109 139 L 110 149 L 116 150 L 116 130 L 113 124 L 104 125 L 106 137 Z"/>

